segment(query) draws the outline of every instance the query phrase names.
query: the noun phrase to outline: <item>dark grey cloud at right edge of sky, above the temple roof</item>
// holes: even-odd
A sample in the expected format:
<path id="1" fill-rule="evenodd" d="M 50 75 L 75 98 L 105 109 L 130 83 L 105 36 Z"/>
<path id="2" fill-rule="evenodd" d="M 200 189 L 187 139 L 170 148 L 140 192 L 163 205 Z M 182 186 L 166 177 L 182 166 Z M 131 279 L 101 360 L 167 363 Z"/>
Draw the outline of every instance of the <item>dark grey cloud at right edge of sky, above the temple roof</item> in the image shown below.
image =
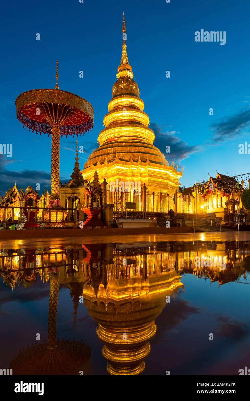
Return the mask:
<path id="1" fill-rule="evenodd" d="M 249 132 L 250 128 L 250 108 L 241 109 L 238 113 L 227 116 L 211 125 L 214 132 L 215 142 L 225 142 L 228 138 L 241 135 L 244 131 Z"/>

